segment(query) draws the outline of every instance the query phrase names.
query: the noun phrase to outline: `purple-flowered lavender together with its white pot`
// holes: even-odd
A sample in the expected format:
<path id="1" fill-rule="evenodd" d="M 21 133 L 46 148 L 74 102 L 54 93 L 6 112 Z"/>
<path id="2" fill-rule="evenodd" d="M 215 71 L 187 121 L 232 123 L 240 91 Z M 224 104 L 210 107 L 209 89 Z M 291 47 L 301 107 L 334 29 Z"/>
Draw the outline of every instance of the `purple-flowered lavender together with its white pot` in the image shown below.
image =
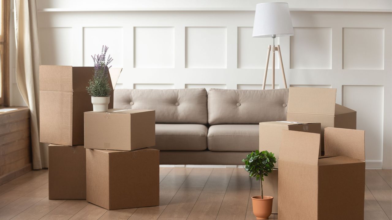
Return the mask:
<path id="1" fill-rule="evenodd" d="M 113 61 L 109 57 L 106 60 L 107 46 L 102 46 L 101 54 L 91 56 L 94 61 L 94 76 L 89 80 L 86 89 L 91 96 L 94 112 L 106 112 L 110 102 L 110 92 L 112 88 L 109 85 L 109 68 L 108 65 Z"/>

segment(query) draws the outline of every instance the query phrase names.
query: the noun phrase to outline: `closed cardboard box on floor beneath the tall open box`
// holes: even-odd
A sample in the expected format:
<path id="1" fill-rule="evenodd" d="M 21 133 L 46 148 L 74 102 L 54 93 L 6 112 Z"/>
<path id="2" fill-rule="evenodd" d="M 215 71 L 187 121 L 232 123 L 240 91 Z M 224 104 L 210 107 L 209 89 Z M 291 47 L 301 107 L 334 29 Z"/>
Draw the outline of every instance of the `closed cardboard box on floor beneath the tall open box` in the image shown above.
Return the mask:
<path id="1" fill-rule="evenodd" d="M 50 144 L 49 199 L 86 199 L 86 150 Z"/>

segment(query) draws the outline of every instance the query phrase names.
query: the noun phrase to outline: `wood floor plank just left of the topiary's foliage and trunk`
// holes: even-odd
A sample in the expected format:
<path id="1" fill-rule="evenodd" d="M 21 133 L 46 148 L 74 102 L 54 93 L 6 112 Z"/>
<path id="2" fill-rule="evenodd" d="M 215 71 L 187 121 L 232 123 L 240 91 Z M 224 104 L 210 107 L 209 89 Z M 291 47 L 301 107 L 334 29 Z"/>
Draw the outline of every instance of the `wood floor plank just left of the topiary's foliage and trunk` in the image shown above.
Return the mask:
<path id="1" fill-rule="evenodd" d="M 252 179 L 243 168 L 235 168 L 227 190 L 224 202 L 248 202 Z"/>

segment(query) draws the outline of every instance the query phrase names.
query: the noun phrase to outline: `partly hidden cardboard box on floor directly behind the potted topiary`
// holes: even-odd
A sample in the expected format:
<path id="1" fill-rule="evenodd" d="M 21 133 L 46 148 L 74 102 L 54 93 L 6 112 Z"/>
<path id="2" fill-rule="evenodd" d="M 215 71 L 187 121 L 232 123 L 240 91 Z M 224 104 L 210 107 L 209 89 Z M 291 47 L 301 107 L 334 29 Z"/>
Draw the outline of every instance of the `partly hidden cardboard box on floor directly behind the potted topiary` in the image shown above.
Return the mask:
<path id="1" fill-rule="evenodd" d="M 272 213 L 274 214 L 278 214 L 278 175 L 278 170 L 272 170 L 272 173 L 264 177 L 263 181 L 263 195 L 274 197 L 272 201 Z"/>

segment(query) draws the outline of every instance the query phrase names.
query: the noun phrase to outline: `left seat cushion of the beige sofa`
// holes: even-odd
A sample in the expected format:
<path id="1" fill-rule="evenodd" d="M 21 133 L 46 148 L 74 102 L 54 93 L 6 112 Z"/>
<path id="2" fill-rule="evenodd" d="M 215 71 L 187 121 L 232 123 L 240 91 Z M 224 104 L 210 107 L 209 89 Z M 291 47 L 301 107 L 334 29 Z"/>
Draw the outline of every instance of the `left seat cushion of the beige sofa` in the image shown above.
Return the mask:
<path id="1" fill-rule="evenodd" d="M 206 150 L 207 127 L 203 124 L 155 124 L 158 150 Z"/>

